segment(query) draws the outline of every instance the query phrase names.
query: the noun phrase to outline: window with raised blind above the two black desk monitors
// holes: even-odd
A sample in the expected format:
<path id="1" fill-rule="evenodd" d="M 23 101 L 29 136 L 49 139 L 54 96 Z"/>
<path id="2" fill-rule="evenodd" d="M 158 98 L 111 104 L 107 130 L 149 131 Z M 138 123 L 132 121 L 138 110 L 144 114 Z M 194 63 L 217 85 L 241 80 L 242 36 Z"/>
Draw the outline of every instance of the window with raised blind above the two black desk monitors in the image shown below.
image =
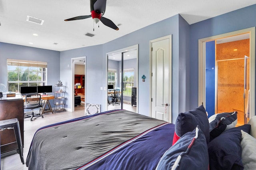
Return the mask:
<path id="1" fill-rule="evenodd" d="M 19 92 L 22 86 L 47 84 L 47 63 L 7 59 L 8 91 Z"/>

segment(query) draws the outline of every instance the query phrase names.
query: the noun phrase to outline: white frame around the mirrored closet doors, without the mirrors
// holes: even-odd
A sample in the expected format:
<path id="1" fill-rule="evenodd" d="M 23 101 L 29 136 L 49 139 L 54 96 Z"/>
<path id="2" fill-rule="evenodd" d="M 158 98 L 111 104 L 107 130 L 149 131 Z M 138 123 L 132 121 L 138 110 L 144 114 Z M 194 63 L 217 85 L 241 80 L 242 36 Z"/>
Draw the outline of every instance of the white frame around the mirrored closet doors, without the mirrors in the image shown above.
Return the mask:
<path id="1" fill-rule="evenodd" d="M 139 88 L 138 88 L 138 85 L 139 85 L 139 82 L 138 82 L 138 75 L 139 75 L 139 68 L 138 68 L 138 65 L 139 65 L 139 45 L 136 44 L 136 45 L 132 45 L 130 47 L 125 47 L 125 48 L 122 48 L 122 49 L 118 49 L 118 50 L 115 50 L 115 51 L 111 51 L 111 52 L 108 52 L 106 53 L 106 59 L 107 59 L 107 62 L 106 62 L 106 87 L 104 87 L 104 90 L 106 91 L 105 92 L 105 96 L 106 96 L 106 110 L 108 110 L 108 55 L 114 55 L 114 54 L 117 54 L 117 53 L 124 53 L 124 52 L 127 52 L 127 51 L 132 51 L 132 50 L 137 50 L 137 63 L 136 63 L 136 67 L 137 67 L 137 84 L 136 84 L 136 87 L 137 87 L 137 91 L 136 91 L 136 97 L 137 97 L 137 104 L 138 104 L 138 101 L 139 101 L 139 95 L 138 95 L 138 91 L 139 91 Z M 117 71 L 118 73 L 118 71 Z M 136 105 L 136 113 L 138 113 L 138 105 Z"/>

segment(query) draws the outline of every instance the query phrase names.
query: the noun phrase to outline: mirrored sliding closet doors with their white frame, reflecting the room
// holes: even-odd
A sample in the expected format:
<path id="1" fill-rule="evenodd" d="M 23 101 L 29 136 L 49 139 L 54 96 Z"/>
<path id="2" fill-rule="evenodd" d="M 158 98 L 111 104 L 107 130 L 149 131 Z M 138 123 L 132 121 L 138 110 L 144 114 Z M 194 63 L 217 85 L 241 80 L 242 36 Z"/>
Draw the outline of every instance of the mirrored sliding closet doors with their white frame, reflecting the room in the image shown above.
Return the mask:
<path id="1" fill-rule="evenodd" d="M 138 113 L 138 45 L 107 53 L 107 109 Z"/>

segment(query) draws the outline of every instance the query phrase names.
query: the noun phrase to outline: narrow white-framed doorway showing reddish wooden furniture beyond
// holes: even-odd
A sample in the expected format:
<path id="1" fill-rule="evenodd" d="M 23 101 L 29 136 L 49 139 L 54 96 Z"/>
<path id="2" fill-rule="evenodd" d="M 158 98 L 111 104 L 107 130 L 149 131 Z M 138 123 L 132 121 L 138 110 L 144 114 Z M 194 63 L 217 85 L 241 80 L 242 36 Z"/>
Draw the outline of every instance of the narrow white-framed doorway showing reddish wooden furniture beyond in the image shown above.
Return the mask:
<path id="1" fill-rule="evenodd" d="M 86 56 L 84 57 L 75 57 L 71 58 L 71 84 L 72 87 L 70 88 L 71 95 L 71 109 L 72 112 L 75 111 L 76 107 L 83 108 L 84 113 L 86 112 Z M 79 79 L 79 80 L 78 80 Z M 75 96 L 78 97 L 78 93 L 80 93 L 80 100 L 81 103 L 79 105 L 78 99 L 75 99 Z M 82 95 L 84 94 L 84 95 Z M 76 100 L 76 101 L 75 101 Z"/>

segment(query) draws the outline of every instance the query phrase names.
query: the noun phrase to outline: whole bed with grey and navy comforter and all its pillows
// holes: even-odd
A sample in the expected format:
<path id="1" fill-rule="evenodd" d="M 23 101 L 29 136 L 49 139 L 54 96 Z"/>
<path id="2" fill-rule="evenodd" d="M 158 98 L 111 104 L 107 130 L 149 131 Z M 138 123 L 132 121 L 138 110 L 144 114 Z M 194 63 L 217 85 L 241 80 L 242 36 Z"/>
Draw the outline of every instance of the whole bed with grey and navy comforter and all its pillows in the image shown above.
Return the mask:
<path id="1" fill-rule="evenodd" d="M 256 116 L 236 127 L 237 112 L 207 117 L 204 106 L 179 113 L 175 125 L 113 110 L 42 127 L 29 170 L 256 169 Z"/>

